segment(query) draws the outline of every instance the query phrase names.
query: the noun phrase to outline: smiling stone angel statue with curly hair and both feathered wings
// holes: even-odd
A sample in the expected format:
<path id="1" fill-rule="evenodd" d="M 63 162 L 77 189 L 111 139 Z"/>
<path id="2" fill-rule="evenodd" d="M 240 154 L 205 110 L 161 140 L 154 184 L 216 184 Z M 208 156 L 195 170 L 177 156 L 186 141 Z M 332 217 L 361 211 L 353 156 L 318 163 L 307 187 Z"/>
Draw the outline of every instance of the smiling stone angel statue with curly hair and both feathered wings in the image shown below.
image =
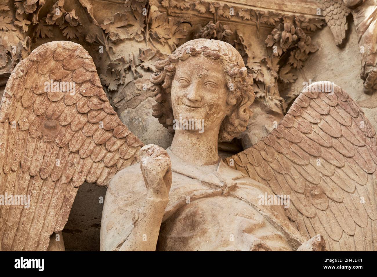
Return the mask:
<path id="1" fill-rule="evenodd" d="M 375 131 L 339 86 L 311 84 L 268 136 L 222 161 L 218 142 L 246 129 L 254 100 L 241 55 L 196 39 L 156 69 L 167 150 L 121 123 L 78 44 L 43 44 L 17 65 L 0 108 L 0 193 L 31 201 L 0 205 L 2 250 L 51 247 L 84 181 L 108 185 L 103 251 L 377 248 Z"/>

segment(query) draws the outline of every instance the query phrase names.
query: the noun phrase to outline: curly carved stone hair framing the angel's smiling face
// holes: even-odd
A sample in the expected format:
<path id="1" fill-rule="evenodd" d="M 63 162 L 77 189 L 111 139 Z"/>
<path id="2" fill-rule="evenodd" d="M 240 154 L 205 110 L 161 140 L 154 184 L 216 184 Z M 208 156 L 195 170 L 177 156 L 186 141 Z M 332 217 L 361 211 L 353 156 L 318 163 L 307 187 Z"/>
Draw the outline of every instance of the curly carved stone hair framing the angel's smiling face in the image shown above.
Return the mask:
<path id="1" fill-rule="evenodd" d="M 174 133 L 170 92 L 176 64 L 198 55 L 219 60 L 224 65 L 225 79 L 229 89 L 227 103 L 236 107 L 222 121 L 218 141 L 231 141 L 246 129 L 252 115 L 249 107 L 254 101 L 255 94 L 252 88 L 253 77 L 247 74 L 241 55 L 233 46 L 224 41 L 206 38 L 190 40 L 178 47 L 166 60 L 156 62 L 157 73 L 153 73 L 150 77 L 157 102 L 152 107 L 152 115 L 158 118 L 158 121 L 170 133 Z"/>

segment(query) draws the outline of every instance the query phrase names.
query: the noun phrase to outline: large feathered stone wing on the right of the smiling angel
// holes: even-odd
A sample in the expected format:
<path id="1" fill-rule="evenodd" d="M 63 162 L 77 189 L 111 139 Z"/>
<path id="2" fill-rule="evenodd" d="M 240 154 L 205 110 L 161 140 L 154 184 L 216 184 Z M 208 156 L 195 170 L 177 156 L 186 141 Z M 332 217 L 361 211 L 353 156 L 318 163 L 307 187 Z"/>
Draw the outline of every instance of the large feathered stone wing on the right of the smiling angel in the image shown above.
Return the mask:
<path id="1" fill-rule="evenodd" d="M 289 195 L 285 212 L 307 239 L 320 234 L 329 250 L 377 250 L 375 130 L 344 90 L 330 87 L 308 86 L 276 129 L 225 161 Z"/>

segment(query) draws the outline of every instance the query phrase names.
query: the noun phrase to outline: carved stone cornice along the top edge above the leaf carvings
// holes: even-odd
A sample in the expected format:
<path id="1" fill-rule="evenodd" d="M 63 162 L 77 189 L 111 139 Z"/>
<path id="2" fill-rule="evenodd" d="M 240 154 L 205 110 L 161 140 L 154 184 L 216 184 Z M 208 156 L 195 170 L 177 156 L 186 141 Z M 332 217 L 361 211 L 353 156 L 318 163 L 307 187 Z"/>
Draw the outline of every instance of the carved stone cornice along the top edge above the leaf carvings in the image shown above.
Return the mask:
<path id="1" fill-rule="evenodd" d="M 257 28 L 263 26 L 273 29 L 275 22 L 287 15 L 302 17 L 315 24 L 324 22 L 324 17 L 317 15 L 320 3 L 311 0 L 295 0 L 291 3 L 276 3 L 273 0 L 158 0 L 158 3 L 160 3 L 159 10 L 161 12 L 166 11 L 168 15 L 174 17 L 189 20 L 201 18 L 213 22 L 222 21 L 257 26 Z M 305 32 L 312 33 L 315 29 L 317 28 L 305 29 Z"/>

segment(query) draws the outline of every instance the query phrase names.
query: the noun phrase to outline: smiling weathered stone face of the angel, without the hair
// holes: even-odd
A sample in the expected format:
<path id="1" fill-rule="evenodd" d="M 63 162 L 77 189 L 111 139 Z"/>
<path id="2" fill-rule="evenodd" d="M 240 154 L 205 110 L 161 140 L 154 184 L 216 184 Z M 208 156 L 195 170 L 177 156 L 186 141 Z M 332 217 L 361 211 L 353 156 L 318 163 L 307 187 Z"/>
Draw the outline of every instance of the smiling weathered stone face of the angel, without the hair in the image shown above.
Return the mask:
<path id="1" fill-rule="evenodd" d="M 174 118 L 204 120 L 206 130 L 219 128 L 230 109 L 228 90 L 220 61 L 204 57 L 180 61 L 171 86 Z"/>

